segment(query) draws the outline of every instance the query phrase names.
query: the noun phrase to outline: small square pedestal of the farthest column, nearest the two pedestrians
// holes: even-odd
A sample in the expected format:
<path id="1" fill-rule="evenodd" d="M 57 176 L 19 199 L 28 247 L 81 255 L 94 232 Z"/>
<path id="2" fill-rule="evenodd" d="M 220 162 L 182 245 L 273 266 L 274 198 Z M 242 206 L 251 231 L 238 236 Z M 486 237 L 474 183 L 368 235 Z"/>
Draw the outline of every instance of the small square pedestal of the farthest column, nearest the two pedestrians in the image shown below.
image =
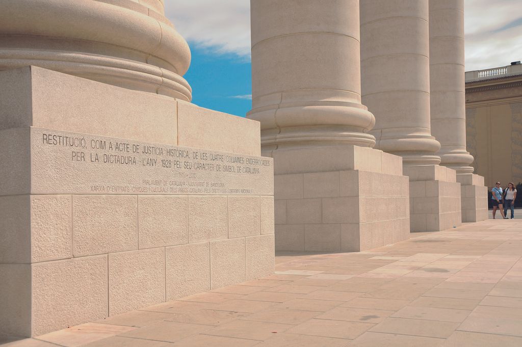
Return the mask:
<path id="1" fill-rule="evenodd" d="M 477 174 L 457 174 L 462 197 L 462 222 L 480 222 L 488 216 L 488 187 L 484 186 L 484 177 Z"/>

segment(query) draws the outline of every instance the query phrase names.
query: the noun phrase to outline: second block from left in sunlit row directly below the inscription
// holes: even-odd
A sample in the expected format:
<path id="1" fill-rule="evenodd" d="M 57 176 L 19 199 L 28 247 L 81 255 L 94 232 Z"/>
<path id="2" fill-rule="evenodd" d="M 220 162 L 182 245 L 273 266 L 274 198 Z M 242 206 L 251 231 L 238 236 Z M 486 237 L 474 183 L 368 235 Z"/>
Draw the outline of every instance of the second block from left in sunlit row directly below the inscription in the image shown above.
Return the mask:
<path id="1" fill-rule="evenodd" d="M 137 196 L 74 195 L 73 255 L 137 249 L 137 207 Z"/>

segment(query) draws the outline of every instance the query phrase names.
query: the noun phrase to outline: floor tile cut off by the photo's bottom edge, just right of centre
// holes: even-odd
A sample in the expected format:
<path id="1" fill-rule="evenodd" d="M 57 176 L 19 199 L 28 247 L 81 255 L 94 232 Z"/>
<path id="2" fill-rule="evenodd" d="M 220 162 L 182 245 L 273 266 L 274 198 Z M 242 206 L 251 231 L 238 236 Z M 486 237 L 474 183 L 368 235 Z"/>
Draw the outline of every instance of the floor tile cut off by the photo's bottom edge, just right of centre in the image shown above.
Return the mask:
<path id="1" fill-rule="evenodd" d="M 255 347 L 346 347 L 349 340 L 306 336 L 295 334 L 276 334 Z"/>

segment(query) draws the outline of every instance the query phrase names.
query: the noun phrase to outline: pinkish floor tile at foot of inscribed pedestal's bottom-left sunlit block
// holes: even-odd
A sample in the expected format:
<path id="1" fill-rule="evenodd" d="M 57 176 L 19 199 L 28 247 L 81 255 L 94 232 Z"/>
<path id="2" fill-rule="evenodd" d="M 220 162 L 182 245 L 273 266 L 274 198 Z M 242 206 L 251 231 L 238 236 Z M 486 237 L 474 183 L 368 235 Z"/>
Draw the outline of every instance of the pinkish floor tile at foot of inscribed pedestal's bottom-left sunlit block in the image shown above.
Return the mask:
<path id="1" fill-rule="evenodd" d="M 137 328 L 109 324 L 86 323 L 75 327 L 40 335 L 38 340 L 52 342 L 65 347 L 77 347 L 106 339 Z"/>

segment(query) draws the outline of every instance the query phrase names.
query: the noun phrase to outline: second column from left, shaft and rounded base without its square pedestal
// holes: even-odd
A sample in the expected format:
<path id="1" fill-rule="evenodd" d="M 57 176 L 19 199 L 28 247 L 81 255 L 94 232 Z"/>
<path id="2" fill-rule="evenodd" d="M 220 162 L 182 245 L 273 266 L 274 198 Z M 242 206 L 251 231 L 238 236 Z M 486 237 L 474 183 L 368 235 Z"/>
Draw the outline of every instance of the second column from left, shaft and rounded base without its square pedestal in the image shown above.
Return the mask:
<path id="1" fill-rule="evenodd" d="M 361 104 L 359 0 L 252 0 L 252 106 L 264 150 L 373 147 Z"/>

